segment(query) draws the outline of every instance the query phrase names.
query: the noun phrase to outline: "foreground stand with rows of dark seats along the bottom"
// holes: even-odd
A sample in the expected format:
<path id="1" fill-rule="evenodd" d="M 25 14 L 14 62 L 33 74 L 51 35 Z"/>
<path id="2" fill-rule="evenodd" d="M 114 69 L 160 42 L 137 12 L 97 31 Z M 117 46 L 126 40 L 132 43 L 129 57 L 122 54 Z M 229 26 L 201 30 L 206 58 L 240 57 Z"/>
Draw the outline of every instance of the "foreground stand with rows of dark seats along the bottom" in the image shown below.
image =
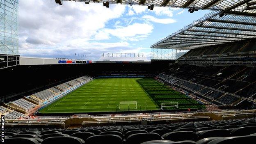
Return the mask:
<path id="1" fill-rule="evenodd" d="M 152 125 L 61 128 L 8 128 L 6 144 L 219 144 L 225 139 L 256 140 L 256 119 L 176 122 Z M 164 141 L 163 141 L 164 140 Z M 169 141 L 167 141 L 169 140 Z M 185 142 L 186 141 L 186 142 Z M 217 143 L 215 143 L 217 141 Z M 253 144 L 254 141 L 247 141 Z M 222 143 L 221 143 L 222 144 Z"/>

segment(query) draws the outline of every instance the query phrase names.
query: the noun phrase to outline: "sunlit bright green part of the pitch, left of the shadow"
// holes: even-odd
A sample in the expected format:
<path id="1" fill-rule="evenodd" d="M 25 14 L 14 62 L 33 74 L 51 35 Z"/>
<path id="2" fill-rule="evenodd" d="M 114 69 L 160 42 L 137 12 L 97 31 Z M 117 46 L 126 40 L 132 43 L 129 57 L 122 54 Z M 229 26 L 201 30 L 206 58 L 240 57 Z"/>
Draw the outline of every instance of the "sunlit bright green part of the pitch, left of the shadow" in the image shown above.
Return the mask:
<path id="1" fill-rule="evenodd" d="M 136 82 L 140 78 L 98 78 L 43 108 L 43 113 L 116 111 L 120 101 L 137 101 L 137 110 L 159 107 Z M 146 102 L 146 103 L 145 103 Z M 145 105 L 147 107 L 145 108 Z M 118 110 L 120 111 L 120 110 Z"/>

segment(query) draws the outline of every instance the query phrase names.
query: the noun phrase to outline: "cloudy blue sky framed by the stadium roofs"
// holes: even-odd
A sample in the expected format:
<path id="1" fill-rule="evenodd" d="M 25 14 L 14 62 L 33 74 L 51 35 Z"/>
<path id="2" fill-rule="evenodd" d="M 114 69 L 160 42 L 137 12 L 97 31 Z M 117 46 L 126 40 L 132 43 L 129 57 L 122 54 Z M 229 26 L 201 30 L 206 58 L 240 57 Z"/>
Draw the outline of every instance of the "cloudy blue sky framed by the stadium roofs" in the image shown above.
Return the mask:
<path id="1" fill-rule="evenodd" d="M 210 11 L 55 0 L 19 0 L 21 56 L 97 60 L 103 53 L 143 53 Z"/>

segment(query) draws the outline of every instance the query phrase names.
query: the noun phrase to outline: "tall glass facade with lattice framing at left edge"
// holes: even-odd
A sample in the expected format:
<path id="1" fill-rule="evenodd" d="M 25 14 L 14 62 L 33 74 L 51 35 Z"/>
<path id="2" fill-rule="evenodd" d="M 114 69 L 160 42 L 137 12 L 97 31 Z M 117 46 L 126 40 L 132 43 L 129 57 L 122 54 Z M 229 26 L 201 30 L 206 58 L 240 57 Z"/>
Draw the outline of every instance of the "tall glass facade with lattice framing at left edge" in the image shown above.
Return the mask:
<path id="1" fill-rule="evenodd" d="M 18 55 L 18 0 L 0 0 L 0 54 Z"/>

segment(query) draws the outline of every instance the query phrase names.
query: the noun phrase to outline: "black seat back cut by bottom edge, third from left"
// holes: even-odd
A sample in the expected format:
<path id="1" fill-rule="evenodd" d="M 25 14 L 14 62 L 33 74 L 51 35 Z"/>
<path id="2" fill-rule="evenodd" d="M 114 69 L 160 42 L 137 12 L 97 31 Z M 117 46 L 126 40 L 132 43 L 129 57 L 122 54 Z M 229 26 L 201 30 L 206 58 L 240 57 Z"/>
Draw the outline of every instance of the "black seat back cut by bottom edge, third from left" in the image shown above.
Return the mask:
<path id="1" fill-rule="evenodd" d="M 94 135 L 88 137 L 87 144 L 123 144 L 123 139 L 118 135 Z"/>

